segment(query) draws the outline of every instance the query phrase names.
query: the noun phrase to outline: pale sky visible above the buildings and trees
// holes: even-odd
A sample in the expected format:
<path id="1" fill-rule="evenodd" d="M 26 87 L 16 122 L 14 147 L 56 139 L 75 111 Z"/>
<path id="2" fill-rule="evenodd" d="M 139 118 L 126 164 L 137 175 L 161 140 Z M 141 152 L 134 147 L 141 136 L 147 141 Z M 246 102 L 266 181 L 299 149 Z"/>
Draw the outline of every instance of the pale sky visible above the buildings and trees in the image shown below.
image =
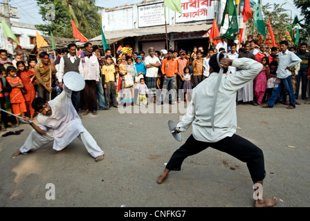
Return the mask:
<path id="1" fill-rule="evenodd" d="M 150 0 L 147 0 L 150 1 Z M 254 0 L 257 2 L 257 0 Z M 124 6 L 126 4 L 141 3 L 142 0 L 97 0 L 96 5 L 103 8 L 114 8 L 116 6 Z M 266 3 L 286 3 L 284 8 L 287 10 L 289 16 L 294 19 L 295 15 L 298 15 L 300 19 L 300 10 L 297 9 L 293 0 L 262 0 L 262 4 Z M 35 0 L 10 0 L 10 6 L 16 7 L 18 9 L 18 15 L 20 17 L 19 21 L 25 23 L 42 24 L 42 16 L 39 15 L 39 6 L 37 6 L 37 1 Z"/>

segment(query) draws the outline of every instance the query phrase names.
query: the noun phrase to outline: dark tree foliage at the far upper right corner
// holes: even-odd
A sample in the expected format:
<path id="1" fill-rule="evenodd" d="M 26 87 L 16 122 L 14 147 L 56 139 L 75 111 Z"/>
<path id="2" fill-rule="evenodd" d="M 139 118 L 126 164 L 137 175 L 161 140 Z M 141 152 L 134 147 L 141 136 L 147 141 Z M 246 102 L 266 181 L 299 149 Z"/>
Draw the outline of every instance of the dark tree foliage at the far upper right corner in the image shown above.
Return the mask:
<path id="1" fill-rule="evenodd" d="M 309 32 L 310 32 L 310 1 L 309 0 L 294 0 L 294 5 L 297 8 L 300 8 L 301 15 L 304 17 L 300 20 L 302 23 L 302 29 L 300 30 L 300 39 L 306 40 L 310 39 Z"/>

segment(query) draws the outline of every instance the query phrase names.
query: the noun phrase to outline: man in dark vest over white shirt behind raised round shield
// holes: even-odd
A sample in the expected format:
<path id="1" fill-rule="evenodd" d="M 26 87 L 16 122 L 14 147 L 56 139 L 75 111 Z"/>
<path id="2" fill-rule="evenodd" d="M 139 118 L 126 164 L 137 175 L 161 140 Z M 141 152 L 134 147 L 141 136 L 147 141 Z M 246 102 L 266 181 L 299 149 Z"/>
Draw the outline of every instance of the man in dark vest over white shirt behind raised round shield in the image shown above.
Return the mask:
<path id="1" fill-rule="evenodd" d="M 83 75 L 83 66 L 81 59 L 76 56 L 76 44 L 71 43 L 68 45 L 69 53 L 68 55 L 63 55 L 60 59 L 60 64 L 58 66 L 58 71 L 56 77 L 59 82 L 60 88 L 62 88 L 62 79 L 64 74 L 69 71 L 75 71 L 80 75 Z M 80 91 L 73 91 L 71 95 L 72 103 L 75 108 L 75 111 L 79 111 L 80 108 Z"/>

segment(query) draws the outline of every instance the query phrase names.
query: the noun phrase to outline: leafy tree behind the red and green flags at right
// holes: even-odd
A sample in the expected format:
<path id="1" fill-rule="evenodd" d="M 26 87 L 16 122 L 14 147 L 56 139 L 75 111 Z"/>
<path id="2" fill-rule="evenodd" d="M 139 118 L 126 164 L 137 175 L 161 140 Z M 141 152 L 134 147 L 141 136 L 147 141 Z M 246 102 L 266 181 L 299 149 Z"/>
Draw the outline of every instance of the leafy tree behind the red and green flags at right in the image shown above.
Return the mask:
<path id="1" fill-rule="evenodd" d="M 271 41 L 269 29 L 268 29 L 268 18 L 271 22 L 271 27 L 273 28 L 273 33 L 275 35 L 275 41 L 277 44 L 279 44 L 280 41 L 283 39 L 288 39 L 291 44 L 293 41 L 291 41 L 291 37 L 287 35 L 287 29 L 289 25 L 291 24 L 291 18 L 286 13 L 286 10 L 283 8 L 285 3 L 273 4 L 273 8 L 271 8 L 270 3 L 266 3 L 265 6 L 262 6 L 262 12 L 264 14 L 264 24 L 267 32 L 267 38 L 264 39 L 262 35 L 260 35 L 258 32 L 254 32 L 254 35 L 256 36 L 257 43 L 262 44 L 264 41 Z M 253 12 L 252 12 L 253 13 Z M 254 15 L 254 13 L 253 13 Z M 251 17 L 248 20 L 248 31 L 247 35 L 253 35 L 253 17 Z"/>

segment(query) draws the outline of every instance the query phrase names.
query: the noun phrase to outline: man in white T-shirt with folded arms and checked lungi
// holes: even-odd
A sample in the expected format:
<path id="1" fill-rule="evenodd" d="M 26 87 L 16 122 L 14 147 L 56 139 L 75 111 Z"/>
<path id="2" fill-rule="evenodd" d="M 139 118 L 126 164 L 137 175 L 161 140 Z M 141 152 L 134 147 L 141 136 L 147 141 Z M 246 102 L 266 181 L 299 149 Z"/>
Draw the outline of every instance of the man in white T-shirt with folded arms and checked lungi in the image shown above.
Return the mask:
<path id="1" fill-rule="evenodd" d="M 152 91 L 149 93 L 149 97 L 154 97 L 156 95 L 156 80 L 158 75 L 158 68 L 161 66 L 161 61 L 155 56 L 154 48 L 149 48 L 149 56 L 145 57 L 145 68 L 147 73 L 145 75 L 145 84 L 147 88 Z"/>

